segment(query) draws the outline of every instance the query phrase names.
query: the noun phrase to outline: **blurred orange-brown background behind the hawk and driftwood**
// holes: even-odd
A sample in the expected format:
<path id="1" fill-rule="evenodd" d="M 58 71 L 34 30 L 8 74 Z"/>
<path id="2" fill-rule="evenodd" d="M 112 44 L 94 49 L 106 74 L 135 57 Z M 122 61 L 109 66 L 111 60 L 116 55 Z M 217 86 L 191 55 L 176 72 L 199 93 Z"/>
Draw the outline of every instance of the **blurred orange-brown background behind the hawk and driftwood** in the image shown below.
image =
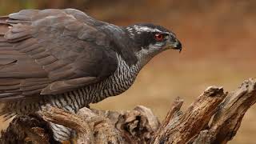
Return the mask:
<path id="1" fill-rule="evenodd" d="M 173 30 L 182 42 L 181 54 L 169 50 L 158 55 L 130 90 L 94 108 L 130 110 L 143 105 L 162 119 L 177 96 L 185 100 L 186 109 L 207 86 L 234 90 L 256 76 L 254 0 L 0 0 L 1 15 L 46 8 L 76 8 L 119 26 L 153 22 Z M 255 143 L 255 135 L 256 106 L 230 143 Z"/>

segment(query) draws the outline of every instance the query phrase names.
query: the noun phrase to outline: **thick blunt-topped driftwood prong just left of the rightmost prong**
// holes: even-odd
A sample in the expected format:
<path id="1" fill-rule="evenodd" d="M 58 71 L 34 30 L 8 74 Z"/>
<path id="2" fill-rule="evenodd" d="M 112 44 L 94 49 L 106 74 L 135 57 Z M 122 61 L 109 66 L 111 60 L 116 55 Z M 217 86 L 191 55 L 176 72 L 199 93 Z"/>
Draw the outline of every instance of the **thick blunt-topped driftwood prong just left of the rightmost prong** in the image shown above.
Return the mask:
<path id="1" fill-rule="evenodd" d="M 210 118 L 218 109 L 218 105 L 226 97 L 221 87 L 210 86 L 201 94 L 182 114 L 179 111 L 181 104 L 175 104 L 176 109 L 172 118 L 166 118 L 163 122 L 164 128 L 158 131 L 152 143 L 186 143 L 194 138 L 203 128 L 206 127 Z M 179 103 L 179 102 L 178 102 Z M 170 116 L 167 116 L 170 117 Z"/>

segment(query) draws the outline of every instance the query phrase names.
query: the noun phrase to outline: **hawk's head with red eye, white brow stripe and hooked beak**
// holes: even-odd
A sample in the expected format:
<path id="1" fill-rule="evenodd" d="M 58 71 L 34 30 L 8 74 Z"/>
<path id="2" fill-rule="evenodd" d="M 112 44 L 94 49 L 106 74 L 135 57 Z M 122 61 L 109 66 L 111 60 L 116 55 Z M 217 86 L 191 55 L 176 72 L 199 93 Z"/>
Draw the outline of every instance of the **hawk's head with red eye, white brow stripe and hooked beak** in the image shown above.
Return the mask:
<path id="1" fill-rule="evenodd" d="M 176 35 L 162 26 L 135 24 L 127 26 L 126 31 L 135 44 L 134 52 L 142 65 L 164 50 L 182 50 Z"/>

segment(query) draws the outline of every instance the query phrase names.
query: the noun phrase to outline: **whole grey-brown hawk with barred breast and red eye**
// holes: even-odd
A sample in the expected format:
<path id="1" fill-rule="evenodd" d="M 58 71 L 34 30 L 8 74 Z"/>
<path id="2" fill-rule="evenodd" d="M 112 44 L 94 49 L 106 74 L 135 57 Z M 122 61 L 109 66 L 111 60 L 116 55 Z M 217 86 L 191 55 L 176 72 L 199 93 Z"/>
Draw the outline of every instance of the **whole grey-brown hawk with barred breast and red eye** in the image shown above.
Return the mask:
<path id="1" fill-rule="evenodd" d="M 121 94 L 156 54 L 182 50 L 162 26 L 115 26 L 79 10 L 22 10 L 0 17 L 0 115 L 42 106 L 76 113 Z M 70 129 L 51 123 L 54 138 Z"/>

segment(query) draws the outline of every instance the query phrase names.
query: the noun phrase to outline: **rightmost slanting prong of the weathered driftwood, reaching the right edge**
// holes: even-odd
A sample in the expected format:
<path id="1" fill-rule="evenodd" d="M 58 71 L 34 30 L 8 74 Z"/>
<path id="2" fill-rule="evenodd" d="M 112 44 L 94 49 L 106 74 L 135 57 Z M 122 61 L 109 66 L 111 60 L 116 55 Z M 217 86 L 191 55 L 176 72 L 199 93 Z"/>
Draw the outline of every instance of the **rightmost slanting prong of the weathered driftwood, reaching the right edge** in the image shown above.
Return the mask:
<path id="1" fill-rule="evenodd" d="M 197 141 L 210 139 L 205 143 L 227 143 L 237 133 L 242 118 L 250 106 L 256 102 L 256 81 L 250 78 L 242 83 L 237 90 L 227 95 L 219 110 L 214 114 L 210 128 L 198 135 Z M 197 142 L 196 142 L 197 143 Z"/>

